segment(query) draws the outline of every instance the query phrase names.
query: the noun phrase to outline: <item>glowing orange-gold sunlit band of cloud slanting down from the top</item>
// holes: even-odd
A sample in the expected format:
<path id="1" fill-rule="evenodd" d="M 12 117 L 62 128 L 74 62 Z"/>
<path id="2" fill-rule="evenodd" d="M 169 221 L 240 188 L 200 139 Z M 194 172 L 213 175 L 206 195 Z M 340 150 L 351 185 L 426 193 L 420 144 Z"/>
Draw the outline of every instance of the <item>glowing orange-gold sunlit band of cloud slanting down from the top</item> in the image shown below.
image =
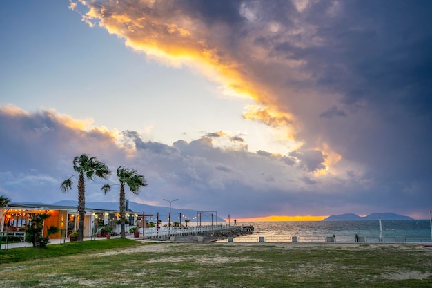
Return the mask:
<path id="1" fill-rule="evenodd" d="M 222 84 L 230 95 L 236 93 L 264 105 L 270 103 L 271 93 L 260 86 L 257 75 L 235 53 L 219 45 L 219 35 L 215 35 L 212 29 L 224 30 L 225 27 L 206 27 L 198 18 L 176 12 L 169 3 L 137 2 L 135 7 L 109 1 L 97 5 L 81 1 L 81 4 L 89 8 L 83 21 L 90 23 L 90 26 L 92 21 L 98 21 L 100 27 L 125 39 L 126 46 L 137 52 L 153 55 L 169 65 L 197 68 L 212 81 Z M 251 113 L 244 118 L 259 120 L 270 126 L 291 126 L 294 120 L 276 106 L 255 111 L 254 117 Z"/>

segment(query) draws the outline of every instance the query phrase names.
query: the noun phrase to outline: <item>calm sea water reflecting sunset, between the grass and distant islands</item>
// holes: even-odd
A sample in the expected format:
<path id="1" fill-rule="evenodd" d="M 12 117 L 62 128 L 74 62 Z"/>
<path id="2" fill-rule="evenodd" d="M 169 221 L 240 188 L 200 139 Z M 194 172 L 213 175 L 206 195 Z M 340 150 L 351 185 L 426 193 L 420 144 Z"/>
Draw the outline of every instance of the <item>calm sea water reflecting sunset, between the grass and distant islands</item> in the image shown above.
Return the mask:
<path id="1" fill-rule="evenodd" d="M 279 239 L 277 242 L 291 242 L 291 237 L 297 236 L 299 242 L 325 242 L 326 237 L 334 235 L 336 242 L 355 242 L 356 234 L 364 236 L 368 242 L 380 238 L 378 220 L 239 222 L 237 225 L 255 228 L 252 236 L 238 240 L 261 236 Z M 431 226 L 429 220 L 382 220 L 382 236 L 384 242 L 395 242 L 397 237 L 406 238 L 406 242 L 431 242 Z"/>

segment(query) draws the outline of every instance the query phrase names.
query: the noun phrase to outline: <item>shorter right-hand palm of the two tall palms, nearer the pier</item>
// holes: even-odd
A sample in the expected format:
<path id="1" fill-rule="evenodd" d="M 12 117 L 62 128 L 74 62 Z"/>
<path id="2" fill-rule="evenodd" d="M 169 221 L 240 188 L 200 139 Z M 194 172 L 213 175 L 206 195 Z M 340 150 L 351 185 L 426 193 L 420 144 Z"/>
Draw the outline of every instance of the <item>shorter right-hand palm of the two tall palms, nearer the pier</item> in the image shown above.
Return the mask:
<path id="1" fill-rule="evenodd" d="M 124 233 L 124 222 L 126 219 L 126 208 L 125 208 L 125 195 L 124 195 L 124 186 L 128 185 L 129 189 L 132 193 L 138 194 L 139 188 L 141 186 L 145 187 L 147 186 L 146 179 L 143 175 L 139 175 L 135 169 L 128 169 L 122 166 L 119 166 L 117 168 L 117 178 L 119 179 L 119 186 L 120 186 L 120 225 L 121 225 L 121 232 L 120 232 L 120 238 L 126 238 L 126 235 Z M 115 184 L 117 185 L 117 184 Z M 101 189 L 104 193 L 108 193 L 108 191 L 111 190 L 111 186 L 114 185 L 104 185 Z"/>

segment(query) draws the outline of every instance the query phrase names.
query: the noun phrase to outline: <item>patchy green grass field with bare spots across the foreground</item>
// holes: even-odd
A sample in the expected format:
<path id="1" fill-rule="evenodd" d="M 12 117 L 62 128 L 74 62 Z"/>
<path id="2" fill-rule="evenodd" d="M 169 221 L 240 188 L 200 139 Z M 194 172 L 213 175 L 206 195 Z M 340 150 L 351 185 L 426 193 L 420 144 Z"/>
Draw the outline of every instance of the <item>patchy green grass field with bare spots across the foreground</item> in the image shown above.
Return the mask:
<path id="1" fill-rule="evenodd" d="M 0 287 L 432 287 L 416 244 L 99 240 L 0 251 Z"/>

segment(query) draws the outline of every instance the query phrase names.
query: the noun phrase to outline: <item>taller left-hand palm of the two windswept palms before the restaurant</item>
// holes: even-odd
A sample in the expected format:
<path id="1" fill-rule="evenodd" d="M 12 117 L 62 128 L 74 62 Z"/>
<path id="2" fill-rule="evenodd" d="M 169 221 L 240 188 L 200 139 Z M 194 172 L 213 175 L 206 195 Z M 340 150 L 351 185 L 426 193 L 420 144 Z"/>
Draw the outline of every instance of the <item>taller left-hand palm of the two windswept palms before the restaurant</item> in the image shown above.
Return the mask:
<path id="1" fill-rule="evenodd" d="M 78 240 L 83 242 L 84 231 L 84 216 L 86 215 L 86 185 L 85 177 L 87 180 L 95 180 L 95 177 L 107 179 L 110 175 L 110 170 L 105 163 L 99 162 L 97 157 L 89 157 L 87 154 L 76 156 L 73 160 L 73 169 L 78 174 L 72 175 L 61 183 L 60 189 L 64 193 L 72 190 L 72 180 L 74 176 L 78 176 L 78 212 L 79 212 L 79 227 L 78 227 Z M 85 177 L 84 177 L 85 176 Z"/>

